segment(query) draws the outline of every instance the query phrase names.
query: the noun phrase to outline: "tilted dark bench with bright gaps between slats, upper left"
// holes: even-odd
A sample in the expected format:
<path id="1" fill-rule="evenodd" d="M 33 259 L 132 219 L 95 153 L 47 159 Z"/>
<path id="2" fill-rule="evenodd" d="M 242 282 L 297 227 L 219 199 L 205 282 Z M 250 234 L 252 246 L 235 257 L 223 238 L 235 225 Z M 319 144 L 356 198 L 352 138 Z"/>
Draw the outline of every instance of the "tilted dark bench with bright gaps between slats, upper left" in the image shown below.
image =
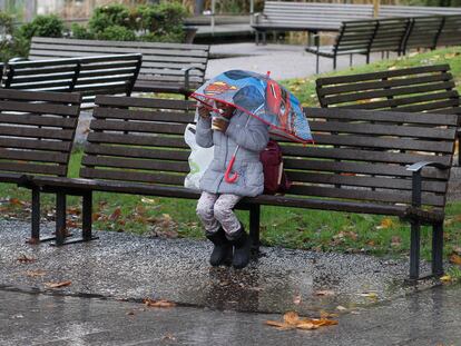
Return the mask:
<path id="1" fill-rule="evenodd" d="M 141 55 L 117 55 L 7 63 L 3 88 L 37 91 L 80 92 L 84 108 L 94 106 L 96 95 L 130 96 L 139 72 Z"/>

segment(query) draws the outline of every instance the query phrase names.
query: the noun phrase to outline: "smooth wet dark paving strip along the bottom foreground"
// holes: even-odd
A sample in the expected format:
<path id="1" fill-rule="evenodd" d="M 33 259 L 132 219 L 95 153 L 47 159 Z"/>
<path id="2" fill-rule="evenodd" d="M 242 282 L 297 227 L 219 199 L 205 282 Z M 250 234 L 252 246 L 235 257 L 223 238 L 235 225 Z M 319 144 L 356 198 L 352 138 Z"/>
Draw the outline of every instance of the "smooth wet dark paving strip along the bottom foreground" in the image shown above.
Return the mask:
<path id="1" fill-rule="evenodd" d="M 461 287 L 435 287 L 342 314 L 317 330 L 266 326 L 279 315 L 141 304 L 0 289 L 0 345 L 344 345 L 461 344 Z"/>

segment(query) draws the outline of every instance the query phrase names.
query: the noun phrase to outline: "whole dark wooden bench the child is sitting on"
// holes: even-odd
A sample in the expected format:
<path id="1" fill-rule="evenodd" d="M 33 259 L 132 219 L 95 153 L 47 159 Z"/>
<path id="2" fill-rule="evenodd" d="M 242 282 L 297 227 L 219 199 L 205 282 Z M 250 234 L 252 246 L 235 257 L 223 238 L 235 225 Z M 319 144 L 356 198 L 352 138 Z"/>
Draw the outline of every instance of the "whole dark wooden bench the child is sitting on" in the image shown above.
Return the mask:
<path id="1" fill-rule="evenodd" d="M 94 191 L 198 198 L 198 191 L 184 187 L 189 170 L 184 131 L 194 119 L 193 102 L 104 96 L 96 102 L 81 178 L 28 180 L 58 195 L 59 225 L 66 224 L 67 195 L 84 196 L 84 239 L 91 239 Z M 287 195 L 245 198 L 238 205 L 249 209 L 254 249 L 261 206 L 399 216 L 411 224 L 411 278 L 419 277 L 421 225 L 433 227 L 432 274 L 441 275 L 457 116 L 337 108 L 305 112 L 316 145 L 281 142 L 293 181 Z M 66 243 L 71 240 L 65 241 L 65 229 L 58 229 L 57 244 Z"/>

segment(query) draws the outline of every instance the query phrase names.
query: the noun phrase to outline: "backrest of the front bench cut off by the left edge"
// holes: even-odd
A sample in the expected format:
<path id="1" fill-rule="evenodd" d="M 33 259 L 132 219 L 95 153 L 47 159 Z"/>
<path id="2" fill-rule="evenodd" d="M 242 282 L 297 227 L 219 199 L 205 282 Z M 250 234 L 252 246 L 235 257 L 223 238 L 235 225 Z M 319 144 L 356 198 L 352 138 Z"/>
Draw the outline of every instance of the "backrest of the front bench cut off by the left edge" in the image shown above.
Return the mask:
<path id="1" fill-rule="evenodd" d="M 79 93 L 0 89 L 0 170 L 66 176 Z"/>

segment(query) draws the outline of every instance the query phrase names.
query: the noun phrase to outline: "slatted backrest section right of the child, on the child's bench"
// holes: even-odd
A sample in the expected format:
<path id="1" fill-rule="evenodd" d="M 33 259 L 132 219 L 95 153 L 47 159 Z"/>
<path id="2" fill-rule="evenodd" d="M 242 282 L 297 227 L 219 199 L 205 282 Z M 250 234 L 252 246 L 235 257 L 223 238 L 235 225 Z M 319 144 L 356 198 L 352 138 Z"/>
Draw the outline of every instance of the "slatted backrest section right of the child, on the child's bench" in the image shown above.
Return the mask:
<path id="1" fill-rule="evenodd" d="M 284 145 L 290 194 L 411 204 L 405 165 L 451 165 L 457 116 L 306 108 L 314 146 Z M 422 204 L 443 208 L 449 171 L 428 169 Z M 357 210 L 355 210 L 357 211 Z"/>

